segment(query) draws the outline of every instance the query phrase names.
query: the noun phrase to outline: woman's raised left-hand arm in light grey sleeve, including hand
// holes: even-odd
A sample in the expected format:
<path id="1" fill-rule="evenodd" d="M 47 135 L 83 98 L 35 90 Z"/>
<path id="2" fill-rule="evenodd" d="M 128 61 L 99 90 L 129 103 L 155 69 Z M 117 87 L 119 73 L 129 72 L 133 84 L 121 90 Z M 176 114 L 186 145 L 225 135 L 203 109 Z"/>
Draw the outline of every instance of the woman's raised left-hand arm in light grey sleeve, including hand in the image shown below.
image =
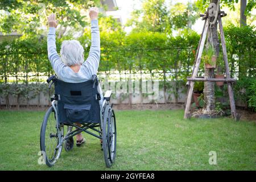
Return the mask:
<path id="1" fill-rule="evenodd" d="M 48 49 L 48 58 L 51 61 L 52 68 L 55 73 L 59 76 L 63 72 L 65 67 L 63 61 L 61 61 L 60 56 L 56 51 L 56 41 L 55 41 L 55 32 L 57 27 L 56 16 L 55 14 L 49 15 L 48 18 L 49 32 L 47 38 L 47 49 Z"/>

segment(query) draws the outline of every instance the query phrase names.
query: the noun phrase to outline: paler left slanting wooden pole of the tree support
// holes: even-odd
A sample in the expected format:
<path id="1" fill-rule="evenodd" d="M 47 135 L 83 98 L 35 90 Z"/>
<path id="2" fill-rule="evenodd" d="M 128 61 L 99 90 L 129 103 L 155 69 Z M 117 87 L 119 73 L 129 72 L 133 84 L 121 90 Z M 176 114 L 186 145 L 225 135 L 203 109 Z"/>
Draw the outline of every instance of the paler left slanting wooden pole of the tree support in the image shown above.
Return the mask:
<path id="1" fill-rule="evenodd" d="M 203 49 L 204 49 L 204 44 L 205 44 L 205 40 L 207 38 L 207 32 L 209 30 L 209 20 L 206 20 L 205 23 L 205 27 L 204 27 L 204 32 L 203 32 L 203 36 L 202 36 L 202 40 L 200 43 L 200 47 L 199 47 L 199 52 L 197 55 L 197 60 L 196 60 L 196 64 L 195 64 L 195 68 L 192 74 L 192 78 L 196 78 L 198 70 L 199 70 L 199 65 L 200 65 L 200 61 L 201 61 L 201 56 L 203 54 Z M 190 105 L 191 105 L 191 100 L 192 100 L 192 93 L 193 93 L 193 89 L 194 89 L 194 85 L 195 82 L 190 82 L 189 84 L 189 90 L 188 90 L 188 98 L 187 98 L 187 102 L 186 102 L 186 107 L 185 107 L 185 113 L 184 113 L 184 118 L 190 118 L 191 114 L 190 114 Z"/>

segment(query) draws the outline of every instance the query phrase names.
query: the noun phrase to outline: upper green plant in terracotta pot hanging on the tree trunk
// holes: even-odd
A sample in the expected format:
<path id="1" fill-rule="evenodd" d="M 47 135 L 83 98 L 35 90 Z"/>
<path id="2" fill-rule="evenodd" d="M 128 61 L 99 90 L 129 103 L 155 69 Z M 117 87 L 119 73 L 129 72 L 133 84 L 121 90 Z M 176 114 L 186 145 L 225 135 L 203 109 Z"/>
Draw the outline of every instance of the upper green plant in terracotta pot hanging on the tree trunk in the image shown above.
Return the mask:
<path id="1" fill-rule="evenodd" d="M 205 68 L 216 68 L 217 56 L 212 46 L 204 50 L 202 58 L 205 63 Z"/>

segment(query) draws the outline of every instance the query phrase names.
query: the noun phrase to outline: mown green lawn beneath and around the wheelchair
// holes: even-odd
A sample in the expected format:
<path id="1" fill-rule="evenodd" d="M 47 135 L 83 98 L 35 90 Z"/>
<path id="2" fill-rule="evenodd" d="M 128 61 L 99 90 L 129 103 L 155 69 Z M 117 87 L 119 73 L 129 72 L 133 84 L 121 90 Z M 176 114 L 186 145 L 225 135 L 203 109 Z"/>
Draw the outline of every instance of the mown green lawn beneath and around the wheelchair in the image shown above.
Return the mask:
<path id="1" fill-rule="evenodd" d="M 117 158 L 105 167 L 100 141 L 63 149 L 54 167 L 38 164 L 43 111 L 0 111 L 0 170 L 255 170 L 256 124 L 183 119 L 183 110 L 117 111 Z M 216 151 L 217 164 L 209 164 Z"/>

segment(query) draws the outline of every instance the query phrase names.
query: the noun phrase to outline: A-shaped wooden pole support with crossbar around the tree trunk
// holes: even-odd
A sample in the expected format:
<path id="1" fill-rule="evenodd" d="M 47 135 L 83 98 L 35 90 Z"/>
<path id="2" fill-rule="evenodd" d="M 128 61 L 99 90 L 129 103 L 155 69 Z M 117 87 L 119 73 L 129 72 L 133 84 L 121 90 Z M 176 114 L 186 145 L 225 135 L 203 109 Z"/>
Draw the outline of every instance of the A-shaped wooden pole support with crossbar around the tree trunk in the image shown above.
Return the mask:
<path id="1" fill-rule="evenodd" d="M 199 41 L 199 46 L 197 47 L 196 59 L 195 59 L 195 63 L 193 66 L 192 77 L 187 78 L 188 93 L 187 93 L 187 102 L 185 105 L 184 118 L 187 119 L 187 118 L 191 117 L 191 112 L 190 112 L 191 99 L 192 99 L 195 81 L 213 81 L 213 82 L 224 81 L 224 82 L 227 82 L 227 84 L 228 84 L 229 102 L 230 102 L 232 117 L 237 121 L 239 119 L 239 117 L 236 113 L 236 106 L 235 106 L 234 95 L 233 95 L 233 90 L 232 90 L 232 82 L 236 81 L 236 79 L 230 78 L 228 55 L 226 53 L 226 42 L 225 42 L 224 30 L 223 30 L 222 21 L 221 21 L 221 18 L 226 16 L 226 14 L 224 13 L 224 11 L 219 11 L 218 17 L 217 17 L 219 28 L 220 28 L 221 46 L 222 46 L 223 59 L 224 59 L 224 64 L 225 64 L 226 78 L 200 78 L 200 77 L 197 77 L 197 73 L 199 71 L 199 65 L 200 65 L 200 61 L 201 61 L 201 56 L 203 54 L 204 44 L 205 44 L 205 40 L 207 39 L 207 34 L 209 31 L 209 24 L 210 24 L 208 12 L 205 13 L 204 15 L 200 15 L 200 16 L 203 16 L 203 20 L 205 20 L 205 23 L 204 23 L 203 32 L 201 34 L 201 38 Z"/>

